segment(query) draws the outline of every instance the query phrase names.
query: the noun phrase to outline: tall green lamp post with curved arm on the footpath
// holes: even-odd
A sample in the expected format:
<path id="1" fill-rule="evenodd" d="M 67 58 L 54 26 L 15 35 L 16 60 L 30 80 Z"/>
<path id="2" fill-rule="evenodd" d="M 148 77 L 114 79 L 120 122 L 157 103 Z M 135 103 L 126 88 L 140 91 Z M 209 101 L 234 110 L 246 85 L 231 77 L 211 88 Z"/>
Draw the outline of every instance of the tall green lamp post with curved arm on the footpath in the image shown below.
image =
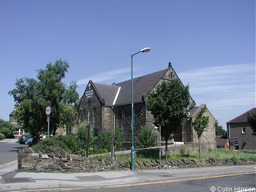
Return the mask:
<path id="1" fill-rule="evenodd" d="M 146 47 L 142 50 L 140 50 L 139 52 L 135 53 L 135 54 L 138 54 L 140 52 L 142 53 L 147 53 L 150 51 L 150 48 L 149 47 Z M 134 151 L 134 145 L 133 145 L 133 122 L 134 122 L 134 117 L 133 117 L 133 55 L 135 54 L 132 54 L 131 55 L 131 98 L 132 98 L 132 147 L 131 147 L 131 170 L 134 171 L 134 156 L 135 156 L 135 151 Z"/>

